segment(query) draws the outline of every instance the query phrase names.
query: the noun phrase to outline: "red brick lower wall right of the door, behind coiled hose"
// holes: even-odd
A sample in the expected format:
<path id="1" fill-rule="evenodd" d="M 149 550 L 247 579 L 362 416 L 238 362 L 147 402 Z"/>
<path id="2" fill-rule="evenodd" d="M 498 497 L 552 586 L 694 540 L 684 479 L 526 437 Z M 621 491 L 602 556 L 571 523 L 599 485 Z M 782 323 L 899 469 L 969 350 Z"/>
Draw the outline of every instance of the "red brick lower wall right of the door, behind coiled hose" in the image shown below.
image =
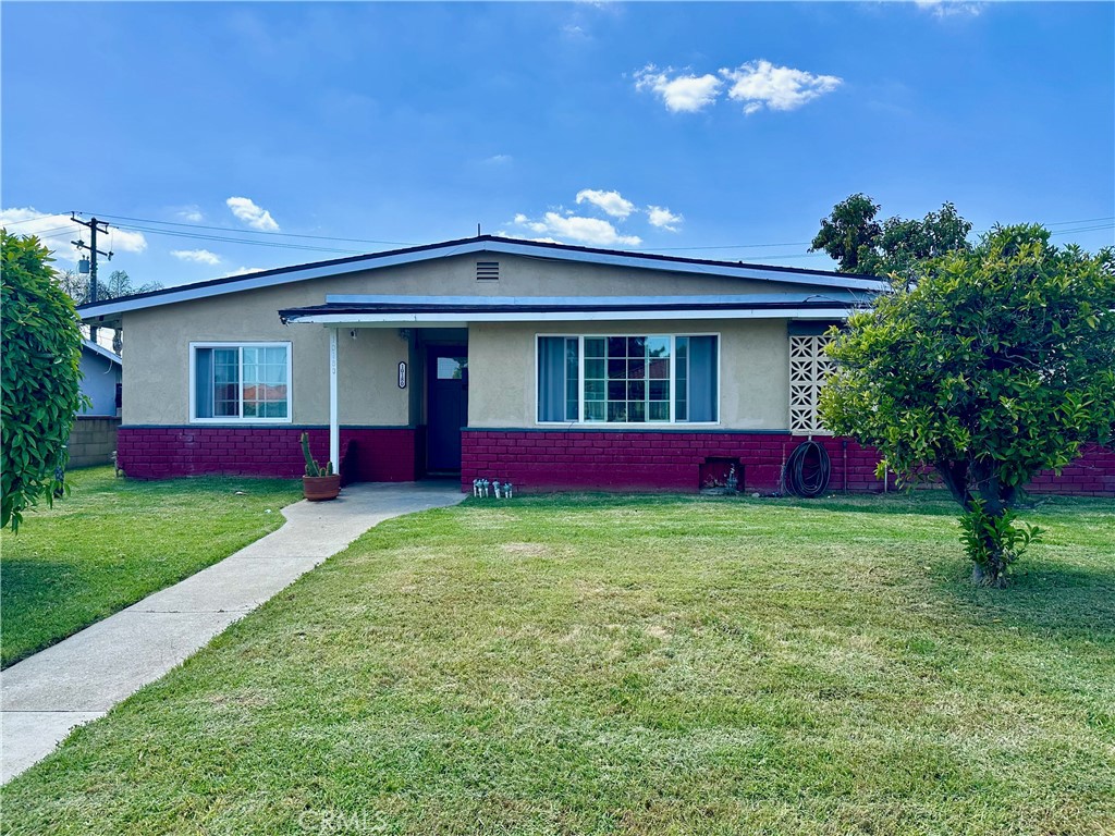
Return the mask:
<path id="1" fill-rule="evenodd" d="M 772 492 L 786 457 L 804 440 L 776 432 L 465 430 L 460 484 L 472 490 L 475 478 L 498 478 L 524 490 L 695 492 L 701 463 L 717 457 L 739 459 L 741 489 Z M 882 489 L 873 449 L 851 439 L 816 440 L 832 458 L 832 490 Z M 1041 474 L 1031 489 L 1115 496 L 1115 451 L 1089 448 L 1060 478 Z"/>

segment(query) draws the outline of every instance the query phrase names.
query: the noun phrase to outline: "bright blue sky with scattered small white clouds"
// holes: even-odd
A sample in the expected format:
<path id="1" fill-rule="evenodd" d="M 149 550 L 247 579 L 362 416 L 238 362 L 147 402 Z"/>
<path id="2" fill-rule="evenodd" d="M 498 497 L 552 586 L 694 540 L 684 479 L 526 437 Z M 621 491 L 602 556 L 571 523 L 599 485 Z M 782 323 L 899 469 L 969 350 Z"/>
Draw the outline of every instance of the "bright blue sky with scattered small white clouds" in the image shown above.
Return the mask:
<path id="1" fill-rule="evenodd" d="M 66 269 L 107 220 L 135 284 L 477 224 L 832 269 L 856 192 L 1115 243 L 1113 3 L 6 2 L 0 38 L 0 224 Z"/>

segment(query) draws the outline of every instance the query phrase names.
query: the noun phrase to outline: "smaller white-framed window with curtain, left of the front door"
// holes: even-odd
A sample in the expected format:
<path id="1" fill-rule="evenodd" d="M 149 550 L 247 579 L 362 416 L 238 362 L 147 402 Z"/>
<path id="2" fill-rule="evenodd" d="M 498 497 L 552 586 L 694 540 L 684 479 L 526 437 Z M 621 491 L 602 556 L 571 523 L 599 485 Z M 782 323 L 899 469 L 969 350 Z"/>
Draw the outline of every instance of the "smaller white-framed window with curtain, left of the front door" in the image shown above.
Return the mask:
<path id="1" fill-rule="evenodd" d="M 290 421 L 290 343 L 192 343 L 194 421 Z"/>

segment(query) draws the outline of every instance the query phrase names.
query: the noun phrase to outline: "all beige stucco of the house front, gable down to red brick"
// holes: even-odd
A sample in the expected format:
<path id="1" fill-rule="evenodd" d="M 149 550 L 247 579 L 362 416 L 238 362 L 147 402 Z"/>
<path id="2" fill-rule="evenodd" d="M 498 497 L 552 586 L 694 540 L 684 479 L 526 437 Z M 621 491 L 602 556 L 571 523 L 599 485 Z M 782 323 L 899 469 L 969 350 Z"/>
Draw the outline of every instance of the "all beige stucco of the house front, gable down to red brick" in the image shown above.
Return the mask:
<path id="1" fill-rule="evenodd" d="M 523 297 L 762 293 L 794 290 L 794 285 L 762 281 L 657 273 L 506 255 L 498 256 L 500 280 L 483 282 L 475 278 L 477 260 L 492 260 L 492 256 L 481 254 L 447 257 L 128 312 L 123 318 L 129 360 L 124 373 L 124 422 L 182 425 L 188 421 L 188 347 L 192 341 L 291 342 L 292 421 L 327 422 L 328 332 L 318 325 L 283 325 L 279 321 L 278 311 L 320 304 L 331 293 Z M 668 329 L 662 323 L 647 328 L 655 332 Z M 717 330 L 725 333 L 723 417 L 726 426 L 785 427 L 787 360 L 784 322 L 715 325 L 709 322 L 689 322 L 681 327 L 670 325 L 669 329 L 685 332 Z M 473 369 L 471 380 L 474 389 L 469 392 L 471 424 L 533 424 L 533 334 L 539 330 L 543 329 L 516 325 L 502 336 L 493 327 L 476 327 L 472 330 L 469 364 Z M 544 330 L 555 332 L 552 328 Z M 615 332 L 618 328 L 602 327 L 601 330 Z M 639 325 L 624 323 L 622 330 L 637 332 Z M 421 385 L 423 370 L 415 362 L 418 358 L 398 338 L 398 330 L 361 329 L 356 340 L 349 339 L 347 331 L 341 334 L 341 422 L 363 426 L 420 422 L 418 405 L 411 402 L 411 397 L 417 400 L 416 387 Z M 777 339 L 768 339 L 776 336 Z M 503 368 L 508 368 L 506 361 L 500 358 L 510 353 L 520 354 L 515 367 L 518 369 L 517 376 L 496 376 L 482 383 L 484 367 L 496 370 L 502 364 Z M 398 389 L 396 385 L 400 360 L 410 361 L 407 391 Z M 481 364 L 476 366 L 476 361 Z M 744 369 L 747 375 L 739 377 Z M 739 382 L 736 382 L 737 378 Z"/>

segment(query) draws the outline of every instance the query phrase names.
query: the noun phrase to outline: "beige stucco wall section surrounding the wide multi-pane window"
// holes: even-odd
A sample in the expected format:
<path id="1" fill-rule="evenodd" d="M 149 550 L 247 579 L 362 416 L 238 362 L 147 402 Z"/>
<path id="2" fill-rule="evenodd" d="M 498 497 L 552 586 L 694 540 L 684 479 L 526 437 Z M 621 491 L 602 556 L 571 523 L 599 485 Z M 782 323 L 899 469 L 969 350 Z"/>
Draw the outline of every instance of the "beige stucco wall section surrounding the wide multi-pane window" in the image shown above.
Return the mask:
<path id="1" fill-rule="evenodd" d="M 723 429 L 769 430 L 784 430 L 788 426 L 789 342 L 785 320 L 570 324 L 481 323 L 469 329 L 469 427 L 539 426 L 535 420 L 535 334 L 539 333 L 719 333 L 718 426 Z"/>

